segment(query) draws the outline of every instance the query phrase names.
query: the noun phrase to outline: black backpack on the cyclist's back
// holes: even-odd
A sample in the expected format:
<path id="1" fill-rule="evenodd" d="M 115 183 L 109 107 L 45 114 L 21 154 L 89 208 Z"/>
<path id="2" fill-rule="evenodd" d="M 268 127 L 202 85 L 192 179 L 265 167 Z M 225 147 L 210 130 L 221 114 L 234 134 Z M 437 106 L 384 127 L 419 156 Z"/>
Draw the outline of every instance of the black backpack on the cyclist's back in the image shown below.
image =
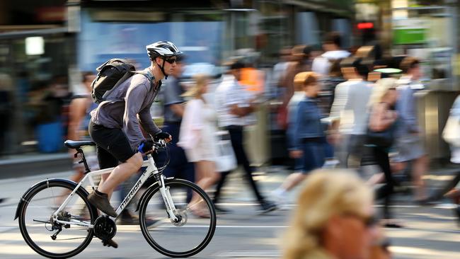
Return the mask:
<path id="1" fill-rule="evenodd" d="M 134 65 L 126 59 L 110 59 L 108 62 L 101 64 L 96 70 L 98 71 L 98 76 L 91 83 L 93 88 L 91 98 L 95 103 L 102 103 L 107 100 L 107 97 L 117 86 L 120 86 L 122 82 L 134 74 L 142 74 L 149 79 L 150 84 L 153 83 L 148 75 L 141 71 L 135 71 Z"/>

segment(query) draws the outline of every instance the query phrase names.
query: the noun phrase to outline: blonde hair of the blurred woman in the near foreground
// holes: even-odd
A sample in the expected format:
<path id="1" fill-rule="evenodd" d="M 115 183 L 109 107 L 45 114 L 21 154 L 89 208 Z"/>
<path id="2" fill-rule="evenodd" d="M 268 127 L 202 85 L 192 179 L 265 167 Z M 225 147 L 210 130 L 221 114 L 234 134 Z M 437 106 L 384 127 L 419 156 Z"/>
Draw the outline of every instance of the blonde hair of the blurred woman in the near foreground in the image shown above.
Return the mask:
<path id="1" fill-rule="evenodd" d="M 311 258 L 323 250 L 321 232 L 328 219 L 340 214 L 362 214 L 372 205 L 372 190 L 352 171 L 319 169 L 306 178 L 297 210 L 284 235 L 285 259 Z"/>

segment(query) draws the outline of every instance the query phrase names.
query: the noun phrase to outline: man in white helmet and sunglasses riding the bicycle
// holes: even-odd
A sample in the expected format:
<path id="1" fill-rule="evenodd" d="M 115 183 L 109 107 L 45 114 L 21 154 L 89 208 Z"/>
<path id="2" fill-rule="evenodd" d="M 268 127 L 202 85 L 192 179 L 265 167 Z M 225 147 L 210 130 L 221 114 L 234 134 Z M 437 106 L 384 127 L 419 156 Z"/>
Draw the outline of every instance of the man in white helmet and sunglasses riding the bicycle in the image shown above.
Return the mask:
<path id="1" fill-rule="evenodd" d="M 134 74 L 91 112 L 89 133 L 96 142 L 99 166 L 101 169 L 115 168 L 110 174 L 102 175 L 98 190 L 92 192 L 88 200 L 112 217 L 117 216 L 109 202 L 114 188 L 137 173 L 142 166 L 142 155 L 152 150 L 152 142 L 143 137 L 141 127 L 154 137 L 154 141 L 172 139 L 170 134 L 156 127 L 150 108 L 159 93 L 161 79 L 167 79 L 173 72 L 183 52 L 168 41 L 147 45 L 146 50 L 151 65 L 144 73 L 150 80 L 142 74 Z"/>

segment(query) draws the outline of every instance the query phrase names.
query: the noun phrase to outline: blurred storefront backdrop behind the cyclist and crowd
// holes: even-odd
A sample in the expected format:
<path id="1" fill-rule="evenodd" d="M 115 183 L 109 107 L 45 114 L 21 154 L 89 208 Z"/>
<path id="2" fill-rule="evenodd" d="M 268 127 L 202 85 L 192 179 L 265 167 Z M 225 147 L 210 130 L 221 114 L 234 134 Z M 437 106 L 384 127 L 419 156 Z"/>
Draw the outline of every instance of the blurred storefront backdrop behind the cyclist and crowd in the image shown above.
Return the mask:
<path id="1" fill-rule="evenodd" d="M 272 115 L 280 50 L 309 45 L 314 57 L 323 36 L 337 31 L 352 53 L 371 45 L 383 56 L 421 60 L 425 146 L 432 161 L 449 159 L 440 135 L 460 91 L 458 16 L 458 0 L 0 1 L 0 154 L 65 152 L 68 105 L 84 92 L 81 72 L 96 72 L 113 57 L 143 69 L 144 46 L 170 40 L 187 54 L 185 81 L 206 73 L 217 84 L 222 64 L 238 56 L 260 71 L 248 91 L 267 101 L 256 115 L 250 153 L 254 163 L 277 163 L 287 156 Z M 162 108 L 159 98 L 152 110 L 159 122 Z"/>

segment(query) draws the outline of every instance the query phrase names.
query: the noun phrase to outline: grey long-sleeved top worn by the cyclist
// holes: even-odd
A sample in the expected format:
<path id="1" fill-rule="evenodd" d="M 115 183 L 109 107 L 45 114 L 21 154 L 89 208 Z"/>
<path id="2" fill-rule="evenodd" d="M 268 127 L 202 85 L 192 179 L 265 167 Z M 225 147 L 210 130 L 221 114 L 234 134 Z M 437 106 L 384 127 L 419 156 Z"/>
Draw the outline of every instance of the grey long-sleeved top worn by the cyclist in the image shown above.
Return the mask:
<path id="1" fill-rule="evenodd" d="M 148 71 L 152 81 L 153 76 Z M 140 126 L 152 136 L 160 132 L 150 115 L 150 107 L 159 93 L 161 81 L 151 87 L 149 79 L 142 74 L 134 74 L 114 89 L 107 100 L 91 112 L 91 121 L 108 128 L 122 129 L 130 141 L 132 149 L 144 141 Z"/>

